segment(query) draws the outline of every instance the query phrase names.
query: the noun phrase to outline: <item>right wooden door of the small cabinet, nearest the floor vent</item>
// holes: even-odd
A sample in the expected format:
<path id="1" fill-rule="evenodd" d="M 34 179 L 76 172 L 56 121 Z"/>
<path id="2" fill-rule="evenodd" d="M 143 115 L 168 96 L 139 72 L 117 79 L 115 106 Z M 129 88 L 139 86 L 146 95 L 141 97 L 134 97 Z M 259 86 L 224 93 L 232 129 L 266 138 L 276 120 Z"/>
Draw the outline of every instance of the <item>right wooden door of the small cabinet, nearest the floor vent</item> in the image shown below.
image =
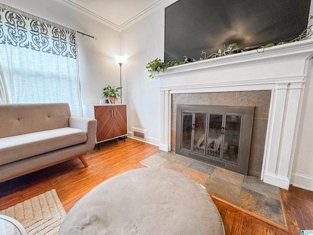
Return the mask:
<path id="1" fill-rule="evenodd" d="M 127 135 L 126 105 L 114 105 L 114 137 Z"/>

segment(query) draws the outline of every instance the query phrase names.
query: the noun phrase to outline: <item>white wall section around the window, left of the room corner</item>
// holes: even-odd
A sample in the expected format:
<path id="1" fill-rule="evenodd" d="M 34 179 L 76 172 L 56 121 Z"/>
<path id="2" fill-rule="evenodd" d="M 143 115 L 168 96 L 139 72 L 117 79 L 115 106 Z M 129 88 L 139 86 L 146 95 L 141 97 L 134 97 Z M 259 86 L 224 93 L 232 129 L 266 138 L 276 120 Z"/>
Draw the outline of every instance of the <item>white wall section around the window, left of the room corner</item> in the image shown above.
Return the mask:
<path id="1" fill-rule="evenodd" d="M 97 40 L 78 34 L 77 45 L 81 72 L 83 104 L 98 104 L 106 84 L 119 86 L 120 35 L 112 28 L 66 7 L 54 0 L 0 0 L 1 3 L 96 36 Z"/>

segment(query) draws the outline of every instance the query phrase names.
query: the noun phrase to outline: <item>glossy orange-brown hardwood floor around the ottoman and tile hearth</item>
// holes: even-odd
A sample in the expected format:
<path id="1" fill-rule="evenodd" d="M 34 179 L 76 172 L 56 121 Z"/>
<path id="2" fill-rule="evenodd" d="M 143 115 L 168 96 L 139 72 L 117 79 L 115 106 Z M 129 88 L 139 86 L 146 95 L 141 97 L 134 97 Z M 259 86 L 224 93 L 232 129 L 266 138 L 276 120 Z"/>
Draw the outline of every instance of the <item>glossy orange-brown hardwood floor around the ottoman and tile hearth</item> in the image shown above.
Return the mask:
<path id="1" fill-rule="evenodd" d="M 45 191 L 56 189 L 65 211 L 89 190 L 122 172 L 145 167 L 139 161 L 155 154 L 158 147 L 130 138 L 100 144 L 86 155 L 89 164 L 73 159 L 0 184 L 0 210 Z M 280 189 L 287 228 L 212 196 L 221 213 L 226 235 L 300 235 L 313 230 L 313 192 L 292 187 Z"/>

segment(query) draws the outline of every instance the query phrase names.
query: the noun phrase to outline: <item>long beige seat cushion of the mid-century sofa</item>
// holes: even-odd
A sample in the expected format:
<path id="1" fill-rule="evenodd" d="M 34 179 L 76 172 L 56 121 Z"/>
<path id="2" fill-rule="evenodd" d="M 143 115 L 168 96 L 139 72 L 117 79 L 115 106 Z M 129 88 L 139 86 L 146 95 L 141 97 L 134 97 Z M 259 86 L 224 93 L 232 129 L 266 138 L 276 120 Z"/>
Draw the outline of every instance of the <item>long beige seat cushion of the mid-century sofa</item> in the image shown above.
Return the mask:
<path id="1" fill-rule="evenodd" d="M 87 141 L 76 128 L 58 128 L 0 139 L 0 165 Z"/>

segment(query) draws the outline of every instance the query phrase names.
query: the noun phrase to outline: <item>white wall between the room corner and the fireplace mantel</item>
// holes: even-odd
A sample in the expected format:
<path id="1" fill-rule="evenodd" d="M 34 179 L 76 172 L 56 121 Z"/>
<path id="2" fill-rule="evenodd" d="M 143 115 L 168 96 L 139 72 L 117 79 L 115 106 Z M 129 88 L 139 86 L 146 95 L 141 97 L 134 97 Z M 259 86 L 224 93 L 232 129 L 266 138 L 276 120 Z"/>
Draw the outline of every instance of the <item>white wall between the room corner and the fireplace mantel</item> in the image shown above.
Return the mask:
<path id="1" fill-rule="evenodd" d="M 147 141 L 159 144 L 159 80 L 149 78 L 146 64 L 164 56 L 164 8 L 121 32 L 122 54 L 128 58 L 123 68 L 127 82 L 128 130 L 148 130 Z"/>

